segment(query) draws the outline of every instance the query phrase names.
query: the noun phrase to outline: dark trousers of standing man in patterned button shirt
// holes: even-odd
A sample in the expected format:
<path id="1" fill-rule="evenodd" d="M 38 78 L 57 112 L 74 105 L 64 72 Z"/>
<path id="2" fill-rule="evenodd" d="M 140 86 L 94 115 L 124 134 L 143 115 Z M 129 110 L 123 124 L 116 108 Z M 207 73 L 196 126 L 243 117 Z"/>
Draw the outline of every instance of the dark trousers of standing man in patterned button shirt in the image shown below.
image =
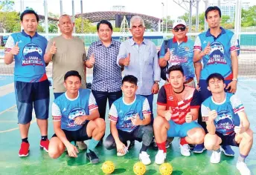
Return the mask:
<path id="1" fill-rule="evenodd" d="M 97 107 L 100 113 L 100 118 L 105 120 L 106 115 L 106 100 L 109 100 L 109 109 L 115 100 L 119 99 L 122 96 L 122 91 L 118 92 L 101 92 L 97 90 L 92 90 L 93 96 L 95 96 L 95 100 L 97 102 Z"/>

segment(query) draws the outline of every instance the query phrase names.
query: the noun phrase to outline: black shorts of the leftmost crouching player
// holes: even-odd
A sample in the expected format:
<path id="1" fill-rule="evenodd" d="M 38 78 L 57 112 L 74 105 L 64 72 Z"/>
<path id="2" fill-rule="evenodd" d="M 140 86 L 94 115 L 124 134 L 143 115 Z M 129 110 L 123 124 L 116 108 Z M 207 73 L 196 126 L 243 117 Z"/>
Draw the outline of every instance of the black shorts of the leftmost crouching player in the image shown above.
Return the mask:
<path id="1" fill-rule="evenodd" d="M 67 131 L 67 130 L 63 130 L 65 133 L 65 137 L 68 139 L 69 142 L 71 141 L 84 141 L 87 139 L 92 139 L 92 136 L 89 137 L 86 133 L 86 127 L 88 125 L 89 121 L 86 121 L 86 123 L 83 125 L 82 128 L 80 128 L 77 131 Z M 54 133 L 54 136 L 57 136 L 56 133 Z"/>

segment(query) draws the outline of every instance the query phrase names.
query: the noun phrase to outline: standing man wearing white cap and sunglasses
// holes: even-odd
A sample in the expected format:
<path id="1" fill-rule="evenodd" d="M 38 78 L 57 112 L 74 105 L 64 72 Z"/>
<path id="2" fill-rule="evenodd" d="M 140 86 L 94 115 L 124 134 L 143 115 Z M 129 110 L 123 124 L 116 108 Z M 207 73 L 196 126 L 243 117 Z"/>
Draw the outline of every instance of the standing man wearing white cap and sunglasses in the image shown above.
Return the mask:
<path id="1" fill-rule="evenodd" d="M 195 69 L 193 67 L 193 41 L 186 34 L 188 28 L 183 19 L 177 19 L 173 23 L 173 39 L 168 39 L 161 44 L 159 65 L 168 70 L 172 65 L 182 65 L 185 76 L 185 85 L 196 87 L 193 80 Z M 169 75 L 166 74 L 167 82 Z M 196 76 L 199 80 L 199 77 Z"/>

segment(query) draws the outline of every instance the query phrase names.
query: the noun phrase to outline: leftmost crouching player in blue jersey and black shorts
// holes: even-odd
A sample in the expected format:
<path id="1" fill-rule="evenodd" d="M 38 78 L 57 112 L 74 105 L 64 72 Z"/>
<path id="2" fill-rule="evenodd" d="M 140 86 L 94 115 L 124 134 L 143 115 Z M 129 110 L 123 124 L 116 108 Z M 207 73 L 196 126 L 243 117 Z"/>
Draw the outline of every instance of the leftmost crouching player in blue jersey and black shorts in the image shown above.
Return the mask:
<path id="1" fill-rule="evenodd" d="M 54 136 L 49 145 L 49 156 L 57 159 L 65 148 L 68 155 L 77 157 L 77 148 L 71 141 L 90 139 L 86 157 L 92 163 L 99 162 L 95 147 L 105 133 L 105 122 L 100 119 L 95 97 L 91 90 L 80 88 L 81 76 L 76 70 L 65 73 L 66 92 L 54 99 L 52 116 Z"/>

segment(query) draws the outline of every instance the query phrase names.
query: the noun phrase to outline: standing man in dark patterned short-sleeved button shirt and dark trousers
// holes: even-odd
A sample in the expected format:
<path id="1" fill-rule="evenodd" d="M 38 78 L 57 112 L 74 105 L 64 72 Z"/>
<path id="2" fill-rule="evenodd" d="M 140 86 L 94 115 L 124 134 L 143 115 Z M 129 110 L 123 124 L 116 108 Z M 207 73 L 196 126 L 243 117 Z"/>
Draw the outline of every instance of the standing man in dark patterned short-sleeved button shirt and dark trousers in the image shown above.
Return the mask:
<path id="1" fill-rule="evenodd" d="M 113 27 L 106 20 L 97 23 L 100 40 L 89 47 L 86 67 L 93 68 L 92 93 L 95 96 L 100 118 L 105 119 L 106 100 L 109 108 L 122 96 L 121 68 L 116 65 L 120 42 L 112 39 Z"/>

